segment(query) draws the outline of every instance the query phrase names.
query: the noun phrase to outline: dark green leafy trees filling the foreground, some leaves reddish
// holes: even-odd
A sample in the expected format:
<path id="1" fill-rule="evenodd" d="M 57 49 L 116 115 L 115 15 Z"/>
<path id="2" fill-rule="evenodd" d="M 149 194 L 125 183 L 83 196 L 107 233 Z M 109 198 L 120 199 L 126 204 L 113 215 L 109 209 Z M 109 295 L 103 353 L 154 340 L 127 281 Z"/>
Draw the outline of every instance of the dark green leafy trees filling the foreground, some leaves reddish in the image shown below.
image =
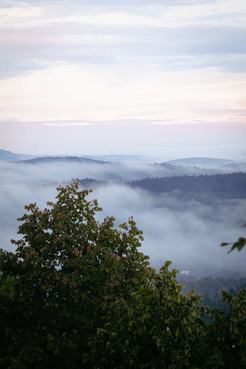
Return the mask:
<path id="1" fill-rule="evenodd" d="M 0 250 L 0 368 L 245 368 L 245 290 L 204 324 L 171 263 L 149 267 L 132 217 L 99 222 L 87 195 L 75 183 L 30 204 L 16 252 Z"/>

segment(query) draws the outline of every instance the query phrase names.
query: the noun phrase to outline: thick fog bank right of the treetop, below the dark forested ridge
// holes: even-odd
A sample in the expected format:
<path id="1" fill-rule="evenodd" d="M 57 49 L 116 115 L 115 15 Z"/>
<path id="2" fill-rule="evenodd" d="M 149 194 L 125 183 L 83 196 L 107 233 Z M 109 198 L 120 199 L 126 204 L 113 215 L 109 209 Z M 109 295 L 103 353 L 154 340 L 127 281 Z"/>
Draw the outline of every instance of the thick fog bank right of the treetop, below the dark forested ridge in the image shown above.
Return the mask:
<path id="1" fill-rule="evenodd" d="M 143 230 L 145 241 L 142 252 L 150 255 L 152 265 L 158 269 L 165 260 L 173 267 L 187 267 L 196 275 L 244 275 L 245 265 L 239 254 L 229 260 L 223 240 L 237 240 L 244 230 L 245 211 L 241 205 L 215 212 L 213 207 L 192 203 L 178 203 L 166 195 L 151 196 L 148 192 L 110 185 L 94 190 L 103 208 L 103 216 L 114 215 L 116 224 L 133 215 Z M 227 214 L 227 215 L 226 215 Z M 242 220 L 240 219 L 242 217 Z M 235 222 L 235 219 L 236 222 Z M 241 223 L 240 223 L 241 221 Z"/>

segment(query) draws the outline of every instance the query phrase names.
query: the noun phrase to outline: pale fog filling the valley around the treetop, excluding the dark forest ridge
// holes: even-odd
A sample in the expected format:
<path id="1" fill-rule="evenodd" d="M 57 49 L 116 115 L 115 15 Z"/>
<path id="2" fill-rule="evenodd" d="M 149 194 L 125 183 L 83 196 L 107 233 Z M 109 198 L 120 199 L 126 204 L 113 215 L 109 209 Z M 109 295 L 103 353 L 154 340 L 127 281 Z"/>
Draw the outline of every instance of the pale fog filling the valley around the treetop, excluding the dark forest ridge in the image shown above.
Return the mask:
<path id="1" fill-rule="evenodd" d="M 55 199 L 56 187 L 62 181 L 77 177 L 100 179 L 102 175 L 108 179 L 109 168 L 110 164 L 84 165 L 82 170 L 77 163 L 17 165 L 1 162 L 0 247 L 14 251 L 9 240 L 21 238 L 16 235 L 16 218 L 25 213 L 26 204 L 36 201 L 42 209 L 47 201 Z M 135 179 L 135 172 L 129 169 L 129 180 Z M 141 251 L 150 256 L 151 266 L 156 269 L 171 260 L 173 267 L 189 269 L 197 276 L 246 275 L 245 250 L 228 255 L 228 248 L 220 247 L 221 242 L 235 242 L 244 236 L 246 200 L 234 201 L 230 205 L 205 206 L 195 201 L 178 201 L 167 194 L 154 196 L 121 183 L 97 185 L 90 198 L 97 198 L 103 208 L 97 215 L 99 220 L 114 215 L 117 227 L 133 216 L 144 233 Z"/>

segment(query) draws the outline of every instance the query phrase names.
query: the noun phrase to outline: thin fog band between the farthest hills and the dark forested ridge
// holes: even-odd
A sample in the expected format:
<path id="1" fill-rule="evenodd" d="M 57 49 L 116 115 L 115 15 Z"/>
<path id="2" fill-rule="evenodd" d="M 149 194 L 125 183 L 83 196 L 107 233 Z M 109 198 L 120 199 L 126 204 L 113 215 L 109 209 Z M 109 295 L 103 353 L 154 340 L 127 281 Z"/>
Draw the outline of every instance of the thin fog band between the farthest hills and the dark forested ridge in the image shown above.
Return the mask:
<path id="1" fill-rule="evenodd" d="M 147 177 L 232 173 L 244 170 L 246 170 L 246 163 L 228 164 L 217 168 L 212 168 L 212 165 L 211 168 L 198 168 L 187 165 L 170 165 L 168 163 L 103 162 L 67 157 L 40 158 L 15 162 L 0 160 L 0 185 L 12 182 L 31 185 L 60 183 L 62 181 L 71 181 L 72 178 L 132 181 Z"/>

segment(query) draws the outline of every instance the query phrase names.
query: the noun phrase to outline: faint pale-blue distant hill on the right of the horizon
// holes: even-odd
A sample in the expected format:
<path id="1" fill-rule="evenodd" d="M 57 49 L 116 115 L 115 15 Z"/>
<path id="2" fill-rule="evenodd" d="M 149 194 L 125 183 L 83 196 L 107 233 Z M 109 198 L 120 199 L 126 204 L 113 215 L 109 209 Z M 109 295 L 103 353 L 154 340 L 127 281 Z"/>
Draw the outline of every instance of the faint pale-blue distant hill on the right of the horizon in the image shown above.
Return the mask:
<path id="1" fill-rule="evenodd" d="M 221 165 L 226 165 L 230 163 L 235 163 L 235 160 L 229 159 L 216 159 L 212 157 L 185 157 L 182 159 L 175 159 L 166 161 L 168 164 L 172 165 L 191 165 L 198 166 L 201 168 L 211 168 L 218 167 Z"/>

